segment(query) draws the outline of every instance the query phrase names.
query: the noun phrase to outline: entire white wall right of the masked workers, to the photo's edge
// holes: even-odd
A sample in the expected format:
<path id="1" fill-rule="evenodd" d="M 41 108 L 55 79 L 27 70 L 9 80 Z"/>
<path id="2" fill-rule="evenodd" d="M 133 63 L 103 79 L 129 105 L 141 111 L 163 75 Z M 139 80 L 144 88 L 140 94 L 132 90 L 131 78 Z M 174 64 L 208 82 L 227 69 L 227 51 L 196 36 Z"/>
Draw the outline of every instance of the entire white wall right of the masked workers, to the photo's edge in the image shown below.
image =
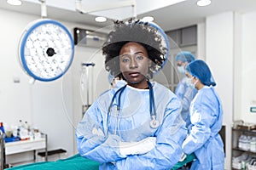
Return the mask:
<path id="1" fill-rule="evenodd" d="M 256 106 L 256 11 L 239 14 L 227 12 L 207 17 L 207 63 L 217 82 L 224 105 L 226 125 L 226 164 L 230 169 L 232 122 L 256 122 L 250 107 Z"/>

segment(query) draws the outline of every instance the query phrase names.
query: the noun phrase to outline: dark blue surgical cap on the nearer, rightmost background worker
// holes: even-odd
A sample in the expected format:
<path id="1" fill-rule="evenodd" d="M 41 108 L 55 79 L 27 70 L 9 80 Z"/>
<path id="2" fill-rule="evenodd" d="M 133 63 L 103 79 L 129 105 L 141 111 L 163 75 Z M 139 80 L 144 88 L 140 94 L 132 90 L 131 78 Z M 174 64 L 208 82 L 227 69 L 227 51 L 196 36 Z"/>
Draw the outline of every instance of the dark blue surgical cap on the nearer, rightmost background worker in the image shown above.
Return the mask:
<path id="1" fill-rule="evenodd" d="M 201 83 L 207 86 L 216 86 L 216 82 L 212 77 L 212 73 L 207 63 L 201 59 L 195 59 L 186 66 L 188 71 L 193 77 L 197 77 Z"/>

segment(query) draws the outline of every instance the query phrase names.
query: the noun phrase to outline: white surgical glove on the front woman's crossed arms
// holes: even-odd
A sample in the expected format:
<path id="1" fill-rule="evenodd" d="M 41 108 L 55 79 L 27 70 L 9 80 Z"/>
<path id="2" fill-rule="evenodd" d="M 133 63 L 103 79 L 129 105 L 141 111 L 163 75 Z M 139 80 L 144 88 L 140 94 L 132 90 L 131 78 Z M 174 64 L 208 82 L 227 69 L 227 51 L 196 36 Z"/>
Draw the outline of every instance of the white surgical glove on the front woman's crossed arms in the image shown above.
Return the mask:
<path id="1" fill-rule="evenodd" d="M 155 137 L 148 137 L 139 142 L 120 142 L 119 151 L 121 156 L 143 155 L 153 150 L 156 144 Z"/>

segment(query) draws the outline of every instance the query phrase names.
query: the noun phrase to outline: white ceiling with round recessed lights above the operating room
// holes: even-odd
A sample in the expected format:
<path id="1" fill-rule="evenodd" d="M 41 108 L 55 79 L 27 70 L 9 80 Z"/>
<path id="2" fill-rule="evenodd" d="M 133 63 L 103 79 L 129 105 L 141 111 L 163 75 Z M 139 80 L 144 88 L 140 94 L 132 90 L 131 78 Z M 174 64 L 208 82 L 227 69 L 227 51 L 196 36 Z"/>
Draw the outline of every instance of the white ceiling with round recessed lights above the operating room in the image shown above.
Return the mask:
<path id="1" fill-rule="evenodd" d="M 87 2 L 86 2 L 87 1 Z M 83 0 L 83 5 L 90 8 L 91 6 L 100 6 L 101 4 L 115 4 L 122 0 Z M 124 1 L 124 0 L 123 0 Z M 127 0 L 126 0 L 127 1 Z M 133 0 L 135 1 L 135 0 Z M 136 11 L 137 18 L 143 16 L 154 16 L 154 22 L 163 28 L 165 31 L 181 28 L 184 26 L 195 25 L 198 22 L 205 20 L 205 18 L 212 14 L 219 14 L 226 11 L 236 11 L 238 13 L 247 13 L 253 10 L 256 11 L 256 0 L 212 0 L 212 4 L 207 7 L 197 7 L 196 0 L 183 0 L 181 3 L 174 5 L 162 4 L 169 2 L 170 0 L 137 0 Z M 175 0 L 173 0 L 175 1 Z M 177 0 L 176 0 L 177 1 Z M 109 20 L 105 23 L 96 23 L 94 21 L 95 15 L 101 14 L 100 12 L 93 14 L 81 14 L 75 9 L 76 0 L 49 0 L 47 4 L 47 17 L 53 20 L 72 21 L 75 23 L 96 26 L 103 28 L 105 26 L 113 25 L 113 20 L 119 20 L 118 16 L 132 17 L 132 8 L 119 8 L 119 11 L 130 10 L 129 14 L 116 13 L 117 19 L 114 17 L 108 17 Z M 90 2 L 90 3 L 89 3 Z M 25 14 L 36 14 L 41 16 L 41 3 L 38 0 L 26 0 L 23 1 L 21 6 L 11 6 L 6 3 L 5 0 L 0 1 L 0 8 L 14 10 Z M 115 12 L 116 8 L 112 9 Z M 105 11 L 106 12 L 106 11 Z M 108 11 L 107 11 L 108 12 Z"/>

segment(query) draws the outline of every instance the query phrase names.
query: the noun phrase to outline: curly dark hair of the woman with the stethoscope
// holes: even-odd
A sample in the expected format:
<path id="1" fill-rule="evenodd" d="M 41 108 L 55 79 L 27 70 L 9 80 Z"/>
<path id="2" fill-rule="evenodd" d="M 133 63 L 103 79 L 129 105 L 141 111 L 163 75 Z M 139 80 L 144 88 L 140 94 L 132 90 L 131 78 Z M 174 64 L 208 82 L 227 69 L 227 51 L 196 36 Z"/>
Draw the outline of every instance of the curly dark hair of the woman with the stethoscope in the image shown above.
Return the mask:
<path id="1" fill-rule="evenodd" d="M 103 44 L 105 69 L 114 77 L 124 78 L 119 68 L 119 52 L 127 42 L 138 42 L 147 50 L 148 59 L 153 61 L 148 69 L 148 78 L 159 71 L 166 59 L 167 48 L 162 45 L 163 38 L 154 26 L 140 20 L 127 22 L 114 22 L 115 31 L 108 34 L 107 41 Z"/>

